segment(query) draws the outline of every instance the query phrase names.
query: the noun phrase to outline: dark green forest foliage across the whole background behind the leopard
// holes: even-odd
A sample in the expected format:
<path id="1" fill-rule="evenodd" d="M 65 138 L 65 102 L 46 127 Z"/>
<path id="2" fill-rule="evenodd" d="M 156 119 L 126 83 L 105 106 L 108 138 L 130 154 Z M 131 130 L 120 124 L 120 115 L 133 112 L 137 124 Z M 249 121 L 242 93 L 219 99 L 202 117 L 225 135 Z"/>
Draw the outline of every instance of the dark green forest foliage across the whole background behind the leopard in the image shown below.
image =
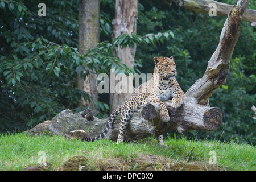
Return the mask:
<path id="1" fill-rule="evenodd" d="M 221 1 L 235 5 L 237 1 Z M 137 34 L 112 40 L 115 1 L 100 4 L 100 44 L 84 55 L 78 52 L 79 3 L 44 1 L 46 16 L 38 16 L 40 1 L 0 2 L 0 133 L 24 131 L 51 119 L 64 109 L 84 110 L 81 96 L 97 107 L 97 117 L 109 115 L 109 94 L 92 100 L 77 88 L 83 64 L 96 74 L 116 72 L 152 73 L 155 56 L 174 56 L 177 81 L 184 92 L 204 75 L 218 45 L 226 20 L 222 16 L 193 13 L 164 1 L 138 1 Z M 256 9 L 256 2 L 249 2 Z M 160 34 L 159 34 L 160 33 Z M 153 36 L 154 35 L 154 36 Z M 144 37 L 148 39 L 144 39 Z M 191 131 L 191 138 L 230 139 L 256 144 L 256 34 L 250 22 L 242 22 L 241 35 L 230 61 L 225 85 L 209 103 L 220 107 L 221 126 L 212 132 Z M 115 56 L 115 44 L 137 44 L 134 69 Z M 88 75 L 88 71 L 82 77 Z M 100 80 L 99 80 L 100 81 Z M 170 134 L 172 135 L 172 134 Z"/>

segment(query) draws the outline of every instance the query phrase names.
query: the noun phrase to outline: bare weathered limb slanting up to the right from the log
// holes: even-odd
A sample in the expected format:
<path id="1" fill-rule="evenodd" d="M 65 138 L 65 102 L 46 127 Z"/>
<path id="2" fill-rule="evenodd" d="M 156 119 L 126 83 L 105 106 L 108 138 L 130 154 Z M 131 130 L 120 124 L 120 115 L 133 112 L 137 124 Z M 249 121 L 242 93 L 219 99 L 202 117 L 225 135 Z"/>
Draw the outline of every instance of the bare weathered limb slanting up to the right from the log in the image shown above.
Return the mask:
<path id="1" fill-rule="evenodd" d="M 185 97 L 196 100 L 198 104 L 206 104 L 214 90 L 225 84 L 229 72 L 230 58 L 240 36 L 242 15 L 247 3 L 246 1 L 238 1 L 239 6 L 234 6 L 230 11 L 222 28 L 218 47 L 208 62 L 204 76 L 188 89 Z"/>

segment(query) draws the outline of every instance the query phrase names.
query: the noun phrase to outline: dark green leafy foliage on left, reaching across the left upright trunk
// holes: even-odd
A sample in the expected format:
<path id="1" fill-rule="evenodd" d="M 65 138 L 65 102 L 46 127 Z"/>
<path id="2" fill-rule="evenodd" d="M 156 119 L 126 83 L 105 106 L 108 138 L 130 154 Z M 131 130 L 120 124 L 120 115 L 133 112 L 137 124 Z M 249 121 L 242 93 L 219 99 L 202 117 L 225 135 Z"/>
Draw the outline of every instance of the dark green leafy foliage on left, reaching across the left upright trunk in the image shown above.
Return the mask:
<path id="1" fill-rule="evenodd" d="M 72 6 L 77 7 L 75 2 Z M 0 22 L 1 133 L 30 128 L 66 108 L 81 110 L 81 97 L 92 100 L 76 87 L 77 75 L 89 74 L 85 67 L 100 73 L 108 73 L 109 68 L 131 72 L 115 56 L 115 44 L 102 42 L 84 55 L 78 53 L 77 12 L 69 11 L 69 3 L 47 6 L 47 18 L 34 13 L 38 11 L 34 1 L 0 3 L 1 17 L 9 17 Z M 63 8 L 57 9 L 59 14 L 56 6 Z M 109 109 L 100 101 L 93 103 L 104 113 Z"/>

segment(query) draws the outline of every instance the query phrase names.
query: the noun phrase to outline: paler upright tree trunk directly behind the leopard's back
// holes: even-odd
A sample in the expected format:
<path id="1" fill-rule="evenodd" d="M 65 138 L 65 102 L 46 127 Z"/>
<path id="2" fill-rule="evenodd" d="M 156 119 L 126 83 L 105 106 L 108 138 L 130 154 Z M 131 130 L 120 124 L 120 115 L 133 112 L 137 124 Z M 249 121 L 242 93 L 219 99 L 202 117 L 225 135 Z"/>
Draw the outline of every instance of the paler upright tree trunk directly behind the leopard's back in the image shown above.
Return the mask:
<path id="1" fill-rule="evenodd" d="M 136 32 L 136 20 L 138 14 L 138 0 L 116 0 L 115 1 L 115 18 L 112 21 L 113 24 L 113 39 L 122 34 L 131 34 Z M 133 47 L 121 46 L 117 47 L 117 56 L 121 59 L 121 63 L 134 67 L 136 45 Z M 123 77 L 125 78 L 125 77 Z M 128 82 L 128 77 L 127 82 Z M 118 80 L 119 78 L 117 78 Z M 116 85 L 116 84 L 115 84 Z M 114 85 L 114 88 L 115 88 Z M 125 102 L 126 98 L 131 95 L 128 92 L 127 85 L 122 85 L 122 93 L 110 93 L 110 113 L 115 110 L 119 105 Z M 120 91 L 121 91 L 120 90 Z"/>

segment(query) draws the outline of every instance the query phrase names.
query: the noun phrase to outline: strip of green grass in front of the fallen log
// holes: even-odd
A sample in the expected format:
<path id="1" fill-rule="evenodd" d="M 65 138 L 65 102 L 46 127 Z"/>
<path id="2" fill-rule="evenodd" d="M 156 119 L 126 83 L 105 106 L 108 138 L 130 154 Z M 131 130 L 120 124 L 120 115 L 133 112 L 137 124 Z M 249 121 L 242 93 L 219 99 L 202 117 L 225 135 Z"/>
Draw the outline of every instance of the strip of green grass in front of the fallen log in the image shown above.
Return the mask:
<path id="1" fill-rule="evenodd" d="M 164 143 L 166 146 L 159 146 L 154 137 L 117 145 L 109 140 L 81 142 L 63 136 L 0 135 L 0 169 L 22 170 L 28 164 L 46 160 L 58 170 L 66 160 L 83 155 L 89 159 L 92 170 L 129 170 L 136 169 L 135 159 L 140 156 L 157 155 L 172 162 L 200 162 L 205 166 L 216 158 L 218 169 L 256 170 L 256 150 L 248 144 L 170 137 Z M 216 155 L 209 155 L 210 151 Z"/>

